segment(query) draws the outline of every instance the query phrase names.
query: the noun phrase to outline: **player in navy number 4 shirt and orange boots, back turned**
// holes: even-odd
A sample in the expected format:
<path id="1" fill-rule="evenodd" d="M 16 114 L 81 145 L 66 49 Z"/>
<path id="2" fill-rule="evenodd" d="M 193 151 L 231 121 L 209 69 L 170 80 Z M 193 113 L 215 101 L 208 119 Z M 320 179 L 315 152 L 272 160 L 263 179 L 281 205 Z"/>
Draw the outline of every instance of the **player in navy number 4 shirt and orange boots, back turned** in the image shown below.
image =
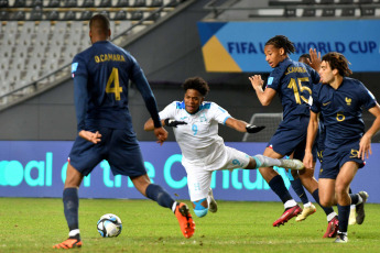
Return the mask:
<path id="1" fill-rule="evenodd" d="M 162 128 L 155 98 L 137 61 L 124 50 L 109 42 L 109 21 L 96 14 L 89 21 L 91 46 L 73 59 L 74 97 L 77 131 L 69 154 L 63 193 L 68 239 L 55 249 L 82 246 L 78 226 L 78 188 L 94 167 L 107 160 L 113 175 L 129 176 L 134 187 L 160 206 L 171 209 L 178 219 L 185 238 L 194 234 L 195 224 L 188 207 L 177 204 L 146 175 L 142 154 L 128 109 L 128 82 L 135 82 L 154 122 L 159 143 L 167 138 Z"/>

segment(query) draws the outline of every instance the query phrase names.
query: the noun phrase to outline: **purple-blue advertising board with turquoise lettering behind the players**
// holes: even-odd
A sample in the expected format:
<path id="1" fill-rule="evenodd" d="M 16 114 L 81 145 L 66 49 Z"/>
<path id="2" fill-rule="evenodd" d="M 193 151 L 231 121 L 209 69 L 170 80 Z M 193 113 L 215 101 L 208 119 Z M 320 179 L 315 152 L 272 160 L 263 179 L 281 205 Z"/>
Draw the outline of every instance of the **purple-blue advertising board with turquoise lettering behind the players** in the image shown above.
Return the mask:
<path id="1" fill-rule="evenodd" d="M 67 155 L 73 142 L 61 141 L 2 141 L 0 142 L 0 197 L 53 197 L 61 198 L 66 176 Z M 227 143 L 248 154 L 260 154 L 265 143 Z M 181 164 L 181 151 L 175 142 L 141 142 L 145 168 L 151 179 L 163 186 L 178 199 L 188 199 L 186 173 Z M 380 144 L 372 144 L 374 154 Z M 380 202 L 377 165 L 380 157 L 370 156 L 363 169 L 359 170 L 351 188 L 366 190 L 369 202 Z M 319 166 L 318 166 L 319 167 Z M 276 168 L 290 187 L 289 175 Z M 317 175 L 316 175 L 317 176 Z M 217 199 L 240 201 L 279 201 L 270 190 L 259 170 L 222 170 L 213 175 L 211 188 Z M 296 198 L 295 194 L 293 196 Z M 109 164 L 102 161 L 87 177 L 79 190 L 80 198 L 144 198 L 131 180 L 113 176 Z"/>

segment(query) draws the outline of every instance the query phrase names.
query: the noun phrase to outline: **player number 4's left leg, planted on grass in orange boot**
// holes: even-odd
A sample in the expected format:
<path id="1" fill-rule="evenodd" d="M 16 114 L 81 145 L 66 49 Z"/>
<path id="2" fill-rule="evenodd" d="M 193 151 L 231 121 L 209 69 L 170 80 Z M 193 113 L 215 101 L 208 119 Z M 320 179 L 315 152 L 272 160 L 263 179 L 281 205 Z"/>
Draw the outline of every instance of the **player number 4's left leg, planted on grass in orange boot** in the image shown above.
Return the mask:
<path id="1" fill-rule="evenodd" d="M 68 239 L 55 244 L 54 249 L 80 248 L 80 233 L 78 222 L 79 197 L 78 188 L 84 175 L 76 170 L 70 163 L 67 164 L 65 188 L 63 191 L 64 213 L 68 226 Z"/>

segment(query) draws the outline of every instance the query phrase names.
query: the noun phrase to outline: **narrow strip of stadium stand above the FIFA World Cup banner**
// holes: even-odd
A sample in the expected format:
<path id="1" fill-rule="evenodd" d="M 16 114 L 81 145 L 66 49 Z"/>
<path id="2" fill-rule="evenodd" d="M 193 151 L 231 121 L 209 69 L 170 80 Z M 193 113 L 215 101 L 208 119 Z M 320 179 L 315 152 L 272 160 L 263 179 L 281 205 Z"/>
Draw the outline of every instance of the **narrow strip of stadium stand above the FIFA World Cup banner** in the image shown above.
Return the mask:
<path id="1" fill-rule="evenodd" d="M 380 16 L 379 0 L 236 0 L 226 4 L 214 4 L 206 9 L 213 11 L 210 19 L 247 20 L 265 18 L 328 19 Z"/>

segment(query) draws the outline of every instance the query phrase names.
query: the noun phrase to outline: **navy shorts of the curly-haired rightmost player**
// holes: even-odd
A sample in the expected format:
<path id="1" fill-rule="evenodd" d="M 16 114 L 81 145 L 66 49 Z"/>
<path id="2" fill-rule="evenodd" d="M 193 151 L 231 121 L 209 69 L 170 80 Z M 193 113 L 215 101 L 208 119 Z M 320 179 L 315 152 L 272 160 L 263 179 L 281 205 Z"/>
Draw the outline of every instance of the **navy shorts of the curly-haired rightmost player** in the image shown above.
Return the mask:
<path id="1" fill-rule="evenodd" d="M 356 162 L 359 168 L 362 168 L 366 163 L 358 158 L 359 141 L 341 146 L 337 150 L 326 147 L 323 153 L 323 163 L 319 170 L 319 178 L 336 179 L 341 166 L 347 162 Z"/>

